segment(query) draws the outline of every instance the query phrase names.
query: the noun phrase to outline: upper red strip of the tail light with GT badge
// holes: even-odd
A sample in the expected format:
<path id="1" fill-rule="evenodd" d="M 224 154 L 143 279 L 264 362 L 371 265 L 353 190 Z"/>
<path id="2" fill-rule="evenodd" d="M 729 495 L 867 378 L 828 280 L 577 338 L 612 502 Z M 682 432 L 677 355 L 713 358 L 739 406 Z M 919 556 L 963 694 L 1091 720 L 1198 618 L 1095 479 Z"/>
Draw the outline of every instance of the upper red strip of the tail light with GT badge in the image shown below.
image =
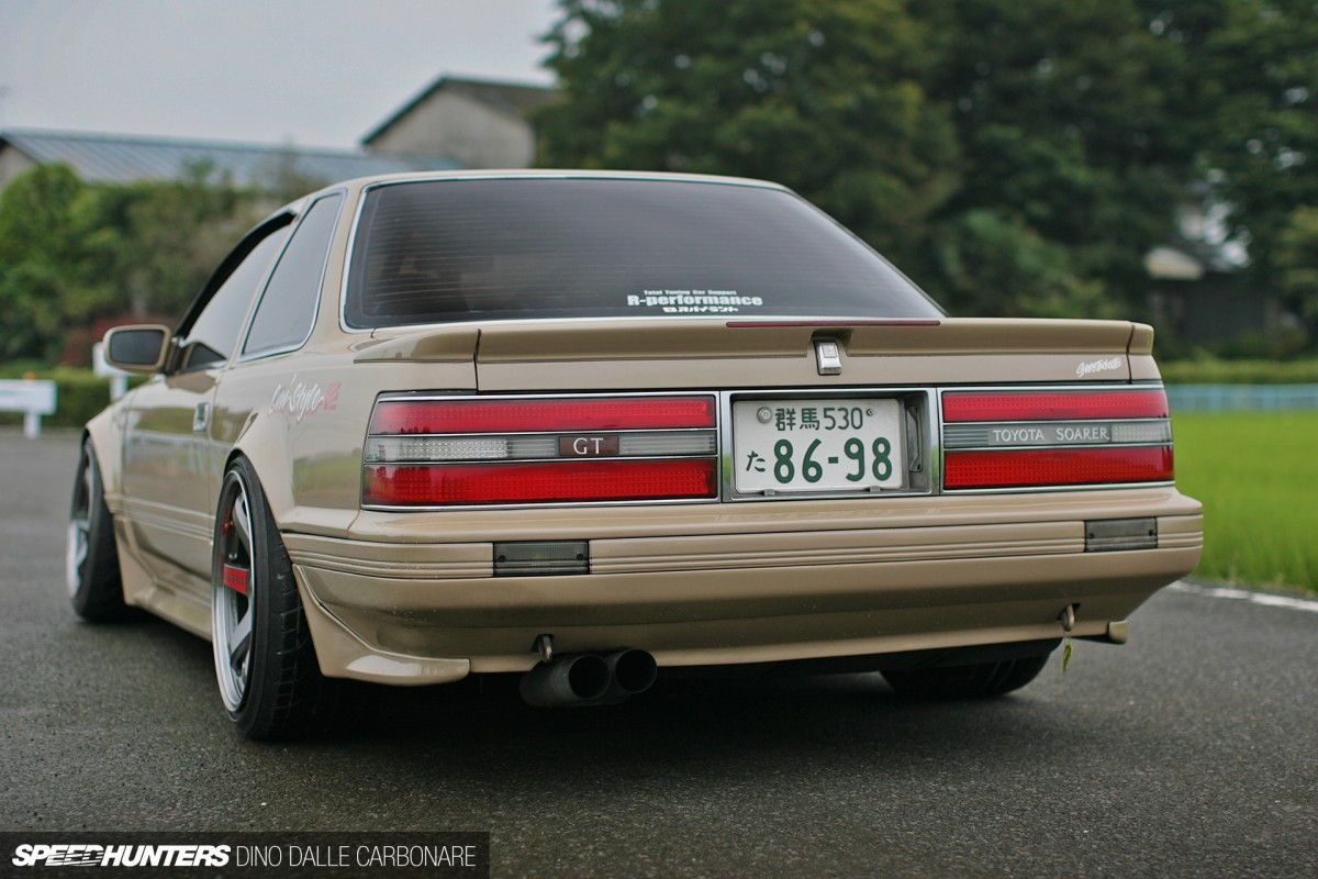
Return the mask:
<path id="1" fill-rule="evenodd" d="M 385 401 L 370 434 L 502 434 L 713 427 L 713 397 Z"/>

